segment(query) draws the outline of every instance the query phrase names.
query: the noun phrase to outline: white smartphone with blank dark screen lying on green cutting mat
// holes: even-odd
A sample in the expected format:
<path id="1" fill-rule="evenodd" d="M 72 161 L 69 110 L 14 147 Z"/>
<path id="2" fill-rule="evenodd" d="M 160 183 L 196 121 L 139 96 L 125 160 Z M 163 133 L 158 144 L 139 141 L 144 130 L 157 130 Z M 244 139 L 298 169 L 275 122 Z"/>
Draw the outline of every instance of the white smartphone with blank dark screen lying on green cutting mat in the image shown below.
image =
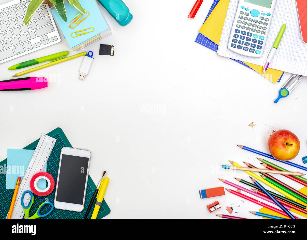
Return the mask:
<path id="1" fill-rule="evenodd" d="M 81 212 L 84 208 L 91 152 L 62 148 L 56 181 L 54 207 Z"/>

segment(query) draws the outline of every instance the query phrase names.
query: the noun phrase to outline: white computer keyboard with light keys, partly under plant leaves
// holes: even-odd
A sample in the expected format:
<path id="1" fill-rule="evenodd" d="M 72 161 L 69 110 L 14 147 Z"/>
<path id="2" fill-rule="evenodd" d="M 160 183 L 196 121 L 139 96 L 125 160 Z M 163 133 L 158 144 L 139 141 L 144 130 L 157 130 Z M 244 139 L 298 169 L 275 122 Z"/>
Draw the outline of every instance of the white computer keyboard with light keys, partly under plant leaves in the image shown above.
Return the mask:
<path id="1" fill-rule="evenodd" d="M 0 63 L 61 41 L 48 5 L 41 4 L 23 24 L 29 3 L 14 0 L 0 5 Z"/>

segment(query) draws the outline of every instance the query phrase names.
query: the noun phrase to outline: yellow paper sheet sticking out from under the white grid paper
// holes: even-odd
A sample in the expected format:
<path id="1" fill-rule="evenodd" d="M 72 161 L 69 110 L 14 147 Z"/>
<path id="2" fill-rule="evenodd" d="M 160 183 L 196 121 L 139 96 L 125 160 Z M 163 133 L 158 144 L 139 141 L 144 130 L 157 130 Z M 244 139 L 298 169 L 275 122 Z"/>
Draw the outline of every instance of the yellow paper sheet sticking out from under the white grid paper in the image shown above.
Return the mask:
<path id="1" fill-rule="evenodd" d="M 206 36 L 208 39 L 210 39 L 217 45 L 220 44 L 220 39 L 222 35 L 224 21 L 227 14 L 229 1 L 230 0 L 220 0 L 220 2 L 218 2 L 218 4 L 213 9 L 210 16 L 207 18 L 207 20 L 199 30 L 201 34 Z M 261 74 L 263 77 L 271 81 L 272 83 L 276 83 L 283 73 L 282 71 L 269 68 L 265 74 L 262 74 L 262 66 L 248 62 L 244 63 L 250 68 L 254 69 L 257 73 Z"/>

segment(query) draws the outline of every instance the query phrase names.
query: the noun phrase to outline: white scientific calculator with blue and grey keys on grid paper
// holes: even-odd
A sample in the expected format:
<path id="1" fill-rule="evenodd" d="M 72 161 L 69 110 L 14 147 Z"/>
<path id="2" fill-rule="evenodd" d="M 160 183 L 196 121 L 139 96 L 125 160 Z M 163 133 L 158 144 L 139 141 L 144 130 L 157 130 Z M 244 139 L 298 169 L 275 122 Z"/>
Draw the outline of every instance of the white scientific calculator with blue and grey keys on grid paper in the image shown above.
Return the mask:
<path id="1" fill-rule="evenodd" d="M 262 57 L 275 3 L 276 0 L 240 0 L 228 49 L 248 57 Z"/>

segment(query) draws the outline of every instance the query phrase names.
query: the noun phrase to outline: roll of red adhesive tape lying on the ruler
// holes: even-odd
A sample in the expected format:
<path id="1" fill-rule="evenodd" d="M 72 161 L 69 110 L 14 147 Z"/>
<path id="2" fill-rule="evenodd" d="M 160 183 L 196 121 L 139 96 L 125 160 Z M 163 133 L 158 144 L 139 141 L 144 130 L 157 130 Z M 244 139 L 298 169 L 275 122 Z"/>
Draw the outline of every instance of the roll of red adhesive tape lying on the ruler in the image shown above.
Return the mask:
<path id="1" fill-rule="evenodd" d="M 45 179 L 47 181 L 48 186 L 46 189 L 40 189 L 37 186 L 37 183 L 40 179 Z M 52 193 L 54 189 L 54 179 L 52 178 L 52 175 L 50 173 L 39 172 L 37 174 L 34 174 L 33 177 L 31 178 L 30 188 L 31 191 L 37 196 L 41 197 L 47 196 L 50 193 Z"/>

